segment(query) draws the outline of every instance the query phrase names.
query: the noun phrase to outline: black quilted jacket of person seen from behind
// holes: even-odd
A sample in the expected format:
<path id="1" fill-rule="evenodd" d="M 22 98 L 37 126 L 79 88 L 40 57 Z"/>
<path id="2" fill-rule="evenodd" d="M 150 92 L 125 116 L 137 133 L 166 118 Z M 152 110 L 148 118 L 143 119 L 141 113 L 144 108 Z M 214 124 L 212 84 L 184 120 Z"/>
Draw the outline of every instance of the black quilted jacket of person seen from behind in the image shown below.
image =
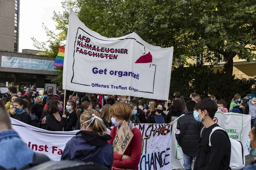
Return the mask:
<path id="1" fill-rule="evenodd" d="M 180 131 L 175 136 L 185 155 L 197 156 L 198 141 L 202 127 L 202 123 L 195 120 L 193 111 L 186 113 L 177 120 L 177 130 Z"/>

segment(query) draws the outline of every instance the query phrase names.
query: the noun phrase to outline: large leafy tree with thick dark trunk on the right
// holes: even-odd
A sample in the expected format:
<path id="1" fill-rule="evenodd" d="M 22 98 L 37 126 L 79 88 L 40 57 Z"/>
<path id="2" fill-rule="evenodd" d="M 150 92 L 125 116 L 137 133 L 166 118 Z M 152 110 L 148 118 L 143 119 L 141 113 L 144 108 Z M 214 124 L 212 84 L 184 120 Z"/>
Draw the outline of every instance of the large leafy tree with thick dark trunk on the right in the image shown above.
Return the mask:
<path id="1" fill-rule="evenodd" d="M 188 49 L 195 54 L 205 53 L 205 60 L 214 60 L 212 54 L 224 56 L 223 71 L 233 74 L 233 58 L 256 57 L 256 1 L 255 0 L 175 0 L 172 19 L 176 28 L 189 34 L 193 43 Z M 207 48 L 205 48 L 207 47 Z M 194 49 L 194 50 L 193 50 Z M 218 57 L 217 57 L 218 58 Z"/>

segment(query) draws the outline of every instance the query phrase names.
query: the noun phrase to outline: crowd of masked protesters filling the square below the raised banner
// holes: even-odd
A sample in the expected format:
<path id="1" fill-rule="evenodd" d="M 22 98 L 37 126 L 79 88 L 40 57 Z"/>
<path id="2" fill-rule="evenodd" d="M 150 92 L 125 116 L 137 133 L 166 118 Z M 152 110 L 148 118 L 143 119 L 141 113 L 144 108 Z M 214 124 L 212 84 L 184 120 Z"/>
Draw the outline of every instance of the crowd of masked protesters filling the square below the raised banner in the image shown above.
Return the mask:
<path id="1" fill-rule="evenodd" d="M 58 93 L 54 95 L 50 88 L 36 92 L 35 87 L 32 87 L 22 93 L 17 91 L 15 86 L 9 87 L 6 96 L 0 99 L 0 147 L 3 147 L 1 138 L 6 136 L 16 136 L 15 140 L 20 141 L 17 133 L 11 130 L 9 116 L 49 131 L 79 130 L 76 136 L 67 142 L 61 160 L 92 161 L 110 170 L 137 170 L 141 157 L 142 136 L 140 130 L 134 127 L 134 123 L 172 126 L 177 118 L 184 115 L 177 120 L 175 136 L 184 153 L 185 169 L 191 170 L 194 160 L 194 170 L 227 170 L 231 146 L 226 132 L 216 130 L 211 137 L 212 145 L 208 144 L 209 133 L 218 126 L 213 118 L 219 109 L 223 113 L 234 112 L 251 116 L 252 130 L 247 147 L 250 154 L 256 156 L 255 97 L 242 101 L 241 95 L 235 94 L 229 110 L 227 102 L 223 99 L 216 100 L 215 96 L 201 99 L 201 96 L 195 93 L 186 98 L 175 92 L 167 101 L 79 92 L 67 96 L 67 99 L 64 97 L 61 87 L 58 87 Z M 124 121 L 134 136 L 125 153 L 120 155 L 113 153 L 112 145 Z M 106 133 L 108 127 L 113 127 L 110 135 Z M 9 139 L 9 142 L 12 140 L 14 139 Z M 6 157 L 0 160 L 0 166 L 6 169 L 11 168 L 10 166 L 20 169 L 31 163 L 32 150 L 26 148 L 23 154 L 28 156 L 23 164 L 17 162 L 9 165 L 9 161 L 5 161 L 9 158 Z M 251 166 L 256 167 L 256 164 Z M 244 170 L 247 170 L 246 168 Z"/>

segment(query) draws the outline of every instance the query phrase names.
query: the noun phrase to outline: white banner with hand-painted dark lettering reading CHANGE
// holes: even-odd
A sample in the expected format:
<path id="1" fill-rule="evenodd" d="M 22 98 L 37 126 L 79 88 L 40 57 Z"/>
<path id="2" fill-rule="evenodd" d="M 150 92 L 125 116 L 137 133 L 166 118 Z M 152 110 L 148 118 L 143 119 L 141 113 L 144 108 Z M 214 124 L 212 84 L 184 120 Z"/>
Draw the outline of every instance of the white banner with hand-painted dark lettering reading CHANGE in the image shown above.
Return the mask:
<path id="1" fill-rule="evenodd" d="M 171 125 L 135 124 L 142 134 L 139 170 L 172 170 Z"/>

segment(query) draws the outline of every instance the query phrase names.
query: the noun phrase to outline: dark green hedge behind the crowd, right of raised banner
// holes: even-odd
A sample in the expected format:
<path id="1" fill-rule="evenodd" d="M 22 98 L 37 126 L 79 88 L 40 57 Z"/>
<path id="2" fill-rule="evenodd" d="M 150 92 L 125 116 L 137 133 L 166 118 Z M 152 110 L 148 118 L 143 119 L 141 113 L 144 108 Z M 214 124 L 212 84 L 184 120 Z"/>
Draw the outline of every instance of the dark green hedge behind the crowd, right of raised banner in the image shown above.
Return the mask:
<path id="1" fill-rule="evenodd" d="M 170 94 L 179 91 L 182 95 L 189 96 L 195 92 L 202 98 L 215 95 L 230 103 L 236 93 L 241 96 L 254 93 L 255 85 L 256 78 L 236 79 L 235 76 L 230 76 L 224 71 L 215 73 L 207 66 L 193 65 L 172 70 Z"/>

